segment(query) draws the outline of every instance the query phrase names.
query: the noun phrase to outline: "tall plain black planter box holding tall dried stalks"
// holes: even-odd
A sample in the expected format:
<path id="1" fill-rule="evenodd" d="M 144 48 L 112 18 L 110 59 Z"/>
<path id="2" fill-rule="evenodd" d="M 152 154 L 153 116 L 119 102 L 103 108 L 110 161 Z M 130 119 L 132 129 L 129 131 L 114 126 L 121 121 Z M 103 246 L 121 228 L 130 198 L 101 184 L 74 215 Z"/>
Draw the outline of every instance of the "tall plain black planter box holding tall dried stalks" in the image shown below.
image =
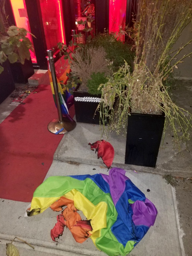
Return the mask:
<path id="1" fill-rule="evenodd" d="M 129 115 L 125 164 L 155 167 L 164 123 L 163 115 Z"/>

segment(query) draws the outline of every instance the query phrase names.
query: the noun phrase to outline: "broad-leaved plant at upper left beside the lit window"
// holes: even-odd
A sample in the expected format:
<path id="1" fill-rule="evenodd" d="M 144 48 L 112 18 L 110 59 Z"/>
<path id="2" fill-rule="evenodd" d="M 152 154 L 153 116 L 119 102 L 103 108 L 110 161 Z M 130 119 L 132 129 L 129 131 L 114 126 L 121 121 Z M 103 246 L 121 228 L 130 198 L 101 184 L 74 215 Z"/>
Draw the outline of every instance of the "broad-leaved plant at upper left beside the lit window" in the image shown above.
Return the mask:
<path id="1" fill-rule="evenodd" d="M 34 51 L 33 45 L 27 33 L 30 33 L 25 28 L 10 26 L 6 28 L 3 20 L 0 18 L 0 64 L 2 65 L 7 59 L 10 63 L 16 61 L 24 64 L 25 59 L 30 59 L 30 51 Z M 31 33 L 30 33 L 31 34 Z M 34 36 L 33 34 L 31 34 Z M 35 37 L 35 36 L 34 36 Z M 3 72 L 3 67 L 0 65 L 0 74 Z"/>

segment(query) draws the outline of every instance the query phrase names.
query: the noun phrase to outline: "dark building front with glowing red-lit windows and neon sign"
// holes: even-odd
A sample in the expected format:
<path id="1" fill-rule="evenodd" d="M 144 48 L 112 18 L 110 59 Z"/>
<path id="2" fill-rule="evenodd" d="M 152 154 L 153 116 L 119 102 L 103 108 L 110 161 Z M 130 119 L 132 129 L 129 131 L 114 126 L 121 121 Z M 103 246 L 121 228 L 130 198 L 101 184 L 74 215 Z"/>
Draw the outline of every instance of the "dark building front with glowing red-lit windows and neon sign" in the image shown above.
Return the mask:
<path id="1" fill-rule="evenodd" d="M 31 60 L 34 69 L 47 69 L 46 50 L 54 49 L 57 43 L 69 44 L 71 30 L 81 32 L 84 27 L 79 20 L 94 19 L 88 23 L 92 36 L 104 29 L 115 32 L 125 24 L 132 25 L 132 14 L 136 13 L 137 0 L 6 0 L 9 25 L 24 27 L 30 33 L 34 52 Z M 57 58 L 56 58 L 57 59 Z"/>

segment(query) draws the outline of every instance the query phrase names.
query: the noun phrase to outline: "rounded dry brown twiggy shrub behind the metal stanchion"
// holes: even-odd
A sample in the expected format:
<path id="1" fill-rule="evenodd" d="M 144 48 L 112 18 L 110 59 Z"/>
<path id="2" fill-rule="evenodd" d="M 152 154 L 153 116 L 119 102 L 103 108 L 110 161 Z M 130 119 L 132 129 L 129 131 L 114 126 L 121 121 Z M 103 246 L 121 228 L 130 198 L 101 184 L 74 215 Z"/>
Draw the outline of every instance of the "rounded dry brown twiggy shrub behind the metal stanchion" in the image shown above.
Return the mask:
<path id="1" fill-rule="evenodd" d="M 90 47 L 79 49 L 73 55 L 71 61 L 71 73 L 82 79 L 81 91 L 88 90 L 87 81 L 91 79 L 91 74 L 104 72 L 109 75 L 109 62 L 106 60 L 106 52 L 103 47 Z"/>

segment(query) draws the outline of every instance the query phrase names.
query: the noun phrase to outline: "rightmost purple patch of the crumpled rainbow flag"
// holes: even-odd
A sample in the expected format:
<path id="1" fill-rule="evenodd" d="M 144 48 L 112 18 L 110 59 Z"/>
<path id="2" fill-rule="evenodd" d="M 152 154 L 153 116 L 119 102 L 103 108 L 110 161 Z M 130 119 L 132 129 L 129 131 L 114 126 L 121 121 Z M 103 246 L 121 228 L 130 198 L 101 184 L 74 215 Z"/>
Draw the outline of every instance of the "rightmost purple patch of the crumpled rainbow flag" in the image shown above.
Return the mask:
<path id="1" fill-rule="evenodd" d="M 132 219 L 135 226 L 145 225 L 149 228 L 153 226 L 157 216 L 157 209 L 149 199 L 146 198 L 145 202 L 137 200 L 130 205 L 133 210 Z"/>

